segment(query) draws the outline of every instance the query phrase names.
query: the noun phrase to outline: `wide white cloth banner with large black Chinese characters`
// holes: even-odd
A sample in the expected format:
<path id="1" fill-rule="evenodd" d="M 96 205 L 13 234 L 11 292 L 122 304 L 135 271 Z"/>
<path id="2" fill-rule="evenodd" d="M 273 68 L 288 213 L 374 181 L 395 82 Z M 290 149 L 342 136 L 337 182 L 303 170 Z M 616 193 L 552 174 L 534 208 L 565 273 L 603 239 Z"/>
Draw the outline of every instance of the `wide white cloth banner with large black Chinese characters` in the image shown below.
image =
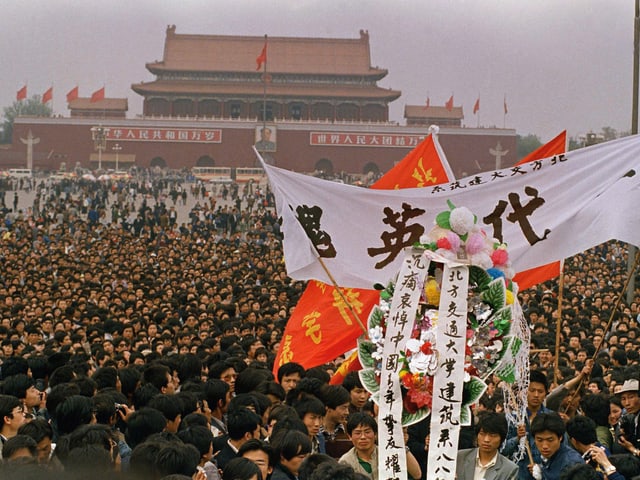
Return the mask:
<path id="1" fill-rule="evenodd" d="M 283 218 L 287 273 L 299 280 L 331 283 L 320 255 L 338 285 L 386 284 L 447 200 L 507 243 L 516 271 L 610 239 L 640 240 L 637 135 L 419 189 L 364 189 L 263 167 Z"/>

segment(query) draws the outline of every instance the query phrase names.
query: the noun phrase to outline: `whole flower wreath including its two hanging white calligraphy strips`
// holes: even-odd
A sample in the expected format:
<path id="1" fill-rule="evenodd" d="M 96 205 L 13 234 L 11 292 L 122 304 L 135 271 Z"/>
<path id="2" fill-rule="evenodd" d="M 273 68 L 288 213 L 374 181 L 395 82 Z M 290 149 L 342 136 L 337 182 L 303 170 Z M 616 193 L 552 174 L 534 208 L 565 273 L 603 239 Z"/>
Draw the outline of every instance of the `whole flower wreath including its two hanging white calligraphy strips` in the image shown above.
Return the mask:
<path id="1" fill-rule="evenodd" d="M 431 413 L 427 478 L 453 479 L 460 427 L 471 424 L 471 406 L 492 375 L 509 385 L 507 414 L 524 415 L 529 332 L 506 245 L 489 238 L 469 209 L 449 204 L 405 251 L 405 264 L 358 341 L 360 378 L 389 424 Z M 379 432 L 390 455 L 403 447 L 400 432 Z"/>

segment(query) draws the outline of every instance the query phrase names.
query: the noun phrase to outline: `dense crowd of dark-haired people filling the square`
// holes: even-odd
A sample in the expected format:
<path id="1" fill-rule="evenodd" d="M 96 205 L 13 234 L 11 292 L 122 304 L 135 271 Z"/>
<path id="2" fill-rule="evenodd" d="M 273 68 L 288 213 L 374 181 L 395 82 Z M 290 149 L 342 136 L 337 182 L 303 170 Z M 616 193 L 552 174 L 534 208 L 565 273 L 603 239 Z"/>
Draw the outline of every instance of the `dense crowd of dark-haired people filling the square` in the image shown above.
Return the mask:
<path id="1" fill-rule="evenodd" d="M 225 186 L 224 198 L 149 177 L 5 186 L 0 477 L 378 480 L 376 408 L 357 373 L 330 385 L 342 358 L 272 373 L 305 284 L 286 275 L 267 186 Z M 562 282 L 521 292 L 528 416 L 508 425 L 489 382 L 458 479 L 640 475 L 628 255 L 598 246 L 569 259 Z M 424 479 L 428 420 L 406 442 L 401 475 Z"/>

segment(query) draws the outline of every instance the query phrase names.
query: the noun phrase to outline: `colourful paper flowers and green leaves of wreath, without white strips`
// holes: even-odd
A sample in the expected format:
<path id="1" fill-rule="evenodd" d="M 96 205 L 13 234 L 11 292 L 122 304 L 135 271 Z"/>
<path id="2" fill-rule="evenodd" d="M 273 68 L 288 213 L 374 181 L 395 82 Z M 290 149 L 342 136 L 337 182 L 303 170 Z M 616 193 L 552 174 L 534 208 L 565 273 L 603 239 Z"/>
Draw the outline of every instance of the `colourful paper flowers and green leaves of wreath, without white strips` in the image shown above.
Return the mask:
<path id="1" fill-rule="evenodd" d="M 466 319 L 464 357 L 465 383 L 461 422 L 470 424 L 470 406 L 486 389 L 485 380 L 492 374 L 507 383 L 515 382 L 515 357 L 522 340 L 511 334 L 514 318 L 513 303 L 517 287 L 511 281 L 513 271 L 506 245 L 489 239 L 477 225 L 473 213 L 456 208 L 438 214 L 436 226 L 421 239 L 422 248 L 438 255 L 466 261 L 469 267 L 469 298 Z M 434 263 L 431 264 L 432 266 Z M 435 264 L 436 270 L 441 264 Z M 433 275 L 431 275 L 433 273 Z M 438 275 L 430 271 L 416 308 L 411 338 L 400 350 L 400 380 L 403 395 L 402 424 L 410 425 L 425 418 L 431 408 L 433 378 L 438 369 L 439 350 L 436 344 L 440 284 Z M 360 379 L 372 394 L 380 399 L 380 371 L 385 345 L 387 318 L 395 284 L 389 283 L 380 295 L 380 303 L 368 319 L 368 337 L 358 341 L 358 356 L 363 369 Z"/>

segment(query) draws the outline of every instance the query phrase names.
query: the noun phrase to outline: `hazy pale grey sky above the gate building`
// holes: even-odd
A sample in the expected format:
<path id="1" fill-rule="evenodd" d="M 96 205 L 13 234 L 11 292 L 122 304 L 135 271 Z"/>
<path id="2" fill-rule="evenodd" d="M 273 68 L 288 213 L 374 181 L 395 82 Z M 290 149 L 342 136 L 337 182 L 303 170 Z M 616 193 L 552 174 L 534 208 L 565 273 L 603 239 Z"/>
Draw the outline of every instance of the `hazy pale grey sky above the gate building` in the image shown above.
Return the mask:
<path id="1" fill-rule="evenodd" d="M 467 126 L 480 96 L 480 124 L 536 134 L 544 142 L 611 126 L 630 130 L 632 0 L 3 0 L 0 107 L 25 83 L 89 96 L 103 84 L 142 113 L 130 86 L 154 77 L 165 29 L 177 33 L 358 38 L 368 30 L 379 85 L 402 91 L 390 106 L 444 105 L 454 95 Z M 256 56 L 259 52 L 256 52 Z"/>

